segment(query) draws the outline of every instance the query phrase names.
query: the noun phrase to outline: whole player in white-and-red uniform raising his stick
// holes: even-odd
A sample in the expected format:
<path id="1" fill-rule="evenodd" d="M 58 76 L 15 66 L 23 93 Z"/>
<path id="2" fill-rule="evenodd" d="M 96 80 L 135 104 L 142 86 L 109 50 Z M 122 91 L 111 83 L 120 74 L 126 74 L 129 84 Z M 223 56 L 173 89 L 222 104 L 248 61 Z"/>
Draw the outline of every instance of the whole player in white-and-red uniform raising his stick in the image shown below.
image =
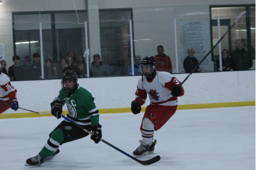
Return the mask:
<path id="1" fill-rule="evenodd" d="M 156 60 L 154 56 L 145 56 L 140 63 L 140 71 L 144 77 L 139 79 L 136 99 L 131 102 L 133 114 L 139 114 L 142 106 L 149 96 L 150 105 L 147 106 L 140 131 L 142 140 L 134 151 L 135 156 L 144 156 L 155 149 L 156 140 L 154 131 L 160 129 L 174 114 L 178 106 L 178 96 L 184 95 L 179 87 L 181 82 L 168 72 L 155 71 Z"/>

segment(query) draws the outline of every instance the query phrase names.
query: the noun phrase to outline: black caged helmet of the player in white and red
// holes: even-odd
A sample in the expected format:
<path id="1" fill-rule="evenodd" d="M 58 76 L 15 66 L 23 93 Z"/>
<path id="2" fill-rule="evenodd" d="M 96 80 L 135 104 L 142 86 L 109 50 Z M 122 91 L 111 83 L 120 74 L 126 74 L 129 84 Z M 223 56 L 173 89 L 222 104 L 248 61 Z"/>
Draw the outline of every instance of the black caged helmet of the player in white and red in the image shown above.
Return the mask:
<path id="1" fill-rule="evenodd" d="M 149 72 L 144 72 L 143 68 L 148 68 Z M 149 77 L 156 69 L 156 59 L 154 56 L 145 56 L 140 62 L 139 69 L 145 77 Z"/>

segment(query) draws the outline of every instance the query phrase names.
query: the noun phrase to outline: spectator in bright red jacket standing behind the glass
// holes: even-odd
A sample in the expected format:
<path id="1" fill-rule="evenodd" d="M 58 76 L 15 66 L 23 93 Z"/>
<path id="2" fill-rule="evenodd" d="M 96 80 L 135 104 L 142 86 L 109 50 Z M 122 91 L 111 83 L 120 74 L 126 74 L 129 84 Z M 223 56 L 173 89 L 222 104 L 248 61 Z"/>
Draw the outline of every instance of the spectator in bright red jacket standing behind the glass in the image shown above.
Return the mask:
<path id="1" fill-rule="evenodd" d="M 165 71 L 172 73 L 172 62 L 168 55 L 164 54 L 164 48 L 162 45 L 157 46 L 158 54 L 155 55 L 156 59 L 156 71 Z"/>

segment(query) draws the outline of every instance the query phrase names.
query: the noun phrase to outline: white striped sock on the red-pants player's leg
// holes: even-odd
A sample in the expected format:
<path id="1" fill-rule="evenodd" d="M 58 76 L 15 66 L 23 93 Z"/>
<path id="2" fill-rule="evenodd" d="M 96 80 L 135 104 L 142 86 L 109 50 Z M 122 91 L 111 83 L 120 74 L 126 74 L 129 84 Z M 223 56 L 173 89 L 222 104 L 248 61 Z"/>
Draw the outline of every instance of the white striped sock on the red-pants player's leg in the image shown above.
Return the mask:
<path id="1" fill-rule="evenodd" d="M 154 124 L 148 119 L 145 118 L 142 121 L 142 143 L 146 145 L 152 145 L 154 138 Z"/>

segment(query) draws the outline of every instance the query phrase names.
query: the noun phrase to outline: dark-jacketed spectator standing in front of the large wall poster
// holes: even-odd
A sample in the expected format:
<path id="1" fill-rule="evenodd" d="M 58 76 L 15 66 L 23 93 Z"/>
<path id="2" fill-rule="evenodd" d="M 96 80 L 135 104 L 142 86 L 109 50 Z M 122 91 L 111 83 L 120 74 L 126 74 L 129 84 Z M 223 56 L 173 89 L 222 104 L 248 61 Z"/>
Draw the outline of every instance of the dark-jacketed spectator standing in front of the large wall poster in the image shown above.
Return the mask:
<path id="1" fill-rule="evenodd" d="M 190 73 L 199 63 L 198 60 L 194 56 L 195 51 L 193 48 L 188 48 L 188 56 L 183 61 L 183 68 L 185 69 L 186 73 Z M 202 69 L 198 68 L 195 70 L 195 73 L 201 72 Z"/>

